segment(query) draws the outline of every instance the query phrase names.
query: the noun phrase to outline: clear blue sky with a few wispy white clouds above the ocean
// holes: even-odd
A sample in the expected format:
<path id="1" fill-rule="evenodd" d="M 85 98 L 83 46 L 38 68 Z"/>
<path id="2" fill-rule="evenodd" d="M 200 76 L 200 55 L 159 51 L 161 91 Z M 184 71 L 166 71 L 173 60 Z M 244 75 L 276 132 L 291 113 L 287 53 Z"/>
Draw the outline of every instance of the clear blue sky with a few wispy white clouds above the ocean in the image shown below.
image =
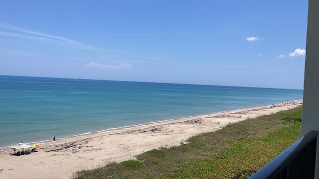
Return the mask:
<path id="1" fill-rule="evenodd" d="M 303 89 L 302 0 L 2 0 L 0 75 Z"/>

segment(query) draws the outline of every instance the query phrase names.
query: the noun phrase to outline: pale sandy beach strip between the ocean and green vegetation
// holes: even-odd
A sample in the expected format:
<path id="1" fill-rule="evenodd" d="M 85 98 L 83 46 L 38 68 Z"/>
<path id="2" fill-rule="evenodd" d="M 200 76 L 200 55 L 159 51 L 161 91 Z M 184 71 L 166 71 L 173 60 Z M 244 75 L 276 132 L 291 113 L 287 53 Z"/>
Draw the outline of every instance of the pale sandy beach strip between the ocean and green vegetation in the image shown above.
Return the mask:
<path id="1" fill-rule="evenodd" d="M 299 101 L 299 100 L 298 100 Z M 93 169 L 110 162 L 135 159 L 143 152 L 180 145 L 191 136 L 212 132 L 229 123 L 276 113 L 302 104 L 276 104 L 209 115 L 181 118 L 112 131 L 38 143 L 37 152 L 13 156 L 0 151 L 1 179 L 68 179 L 76 171 Z"/>

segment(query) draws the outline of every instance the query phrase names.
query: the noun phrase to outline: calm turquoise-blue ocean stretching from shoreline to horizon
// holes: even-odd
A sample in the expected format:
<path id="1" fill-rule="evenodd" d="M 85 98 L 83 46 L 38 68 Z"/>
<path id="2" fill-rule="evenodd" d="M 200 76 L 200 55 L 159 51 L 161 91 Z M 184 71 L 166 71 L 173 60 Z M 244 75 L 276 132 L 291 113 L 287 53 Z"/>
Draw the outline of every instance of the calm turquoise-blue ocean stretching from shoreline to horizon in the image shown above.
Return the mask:
<path id="1" fill-rule="evenodd" d="M 302 98 L 298 89 L 0 76 L 0 149 Z"/>

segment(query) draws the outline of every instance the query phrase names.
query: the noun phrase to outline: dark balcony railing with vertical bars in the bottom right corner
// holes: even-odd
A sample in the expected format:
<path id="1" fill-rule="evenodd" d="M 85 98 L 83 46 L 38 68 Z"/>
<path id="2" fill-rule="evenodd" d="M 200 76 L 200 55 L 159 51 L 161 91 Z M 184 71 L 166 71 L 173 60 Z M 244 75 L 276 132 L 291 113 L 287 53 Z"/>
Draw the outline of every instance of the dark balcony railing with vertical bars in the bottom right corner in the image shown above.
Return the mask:
<path id="1" fill-rule="evenodd" d="M 249 179 L 314 179 L 318 131 L 310 131 Z"/>

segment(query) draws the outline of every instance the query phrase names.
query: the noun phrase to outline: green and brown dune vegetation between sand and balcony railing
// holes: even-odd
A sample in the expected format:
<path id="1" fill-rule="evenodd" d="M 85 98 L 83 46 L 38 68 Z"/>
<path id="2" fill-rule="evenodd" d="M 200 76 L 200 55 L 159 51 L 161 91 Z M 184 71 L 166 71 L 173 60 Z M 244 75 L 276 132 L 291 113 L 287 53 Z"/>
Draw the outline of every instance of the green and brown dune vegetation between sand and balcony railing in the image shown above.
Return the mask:
<path id="1" fill-rule="evenodd" d="M 229 124 L 74 179 L 246 179 L 300 138 L 302 107 Z"/>

